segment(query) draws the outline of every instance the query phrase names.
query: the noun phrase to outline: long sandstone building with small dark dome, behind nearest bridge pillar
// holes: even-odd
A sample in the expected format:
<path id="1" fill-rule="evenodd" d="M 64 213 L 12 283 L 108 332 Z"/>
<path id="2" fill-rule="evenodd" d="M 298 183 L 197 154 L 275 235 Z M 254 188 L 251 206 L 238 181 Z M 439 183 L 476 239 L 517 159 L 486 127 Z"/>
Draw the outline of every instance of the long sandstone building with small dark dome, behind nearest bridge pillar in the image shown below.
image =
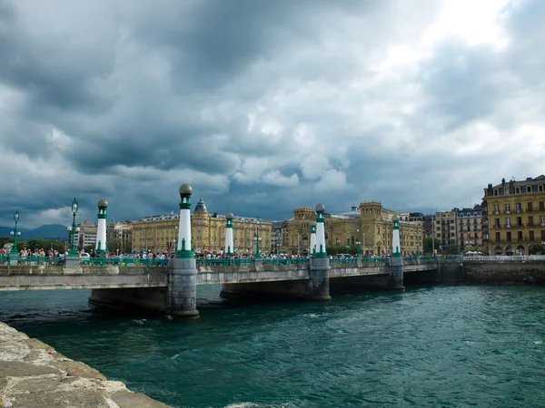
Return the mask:
<path id="1" fill-rule="evenodd" d="M 133 226 L 133 249 L 152 252 L 168 251 L 174 247 L 178 235 L 180 216 L 175 214 L 152 216 L 135 221 Z M 209 214 L 203 200 L 199 200 L 191 218 L 193 250 L 199 253 L 223 253 L 225 245 L 226 219 L 217 213 Z M 260 252 L 269 254 L 272 248 L 272 223 L 261 219 L 233 218 L 234 250 L 239 255 L 255 253 L 255 238 L 259 236 Z"/>

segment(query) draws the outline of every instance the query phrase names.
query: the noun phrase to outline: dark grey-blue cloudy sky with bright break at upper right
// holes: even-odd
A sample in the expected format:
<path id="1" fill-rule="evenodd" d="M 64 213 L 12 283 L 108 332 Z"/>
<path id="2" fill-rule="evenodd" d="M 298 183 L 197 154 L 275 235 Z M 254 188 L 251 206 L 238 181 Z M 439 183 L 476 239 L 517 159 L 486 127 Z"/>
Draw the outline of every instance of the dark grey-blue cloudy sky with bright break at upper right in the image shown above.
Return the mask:
<path id="1" fill-rule="evenodd" d="M 545 173 L 541 0 L 0 0 L 0 225 L 431 212 Z"/>

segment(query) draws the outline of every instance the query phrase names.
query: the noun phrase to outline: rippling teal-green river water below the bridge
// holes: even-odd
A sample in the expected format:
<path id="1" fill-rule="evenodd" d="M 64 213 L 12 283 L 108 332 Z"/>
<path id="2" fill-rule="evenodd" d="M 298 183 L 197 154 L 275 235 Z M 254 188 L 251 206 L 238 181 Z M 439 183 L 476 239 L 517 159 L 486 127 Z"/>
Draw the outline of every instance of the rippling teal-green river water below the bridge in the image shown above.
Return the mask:
<path id="1" fill-rule="evenodd" d="M 104 316 L 88 291 L 0 292 L 0 320 L 175 407 L 545 406 L 544 287 L 416 287 Z"/>

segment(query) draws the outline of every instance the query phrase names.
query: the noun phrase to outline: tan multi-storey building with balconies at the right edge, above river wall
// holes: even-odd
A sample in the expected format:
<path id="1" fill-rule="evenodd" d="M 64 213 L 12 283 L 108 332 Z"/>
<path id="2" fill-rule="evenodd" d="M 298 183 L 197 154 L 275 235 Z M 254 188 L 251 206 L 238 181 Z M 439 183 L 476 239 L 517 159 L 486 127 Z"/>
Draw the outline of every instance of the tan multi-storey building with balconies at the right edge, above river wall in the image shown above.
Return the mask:
<path id="1" fill-rule="evenodd" d="M 492 255 L 528 255 L 545 246 L 545 175 L 484 189 L 483 240 Z"/>

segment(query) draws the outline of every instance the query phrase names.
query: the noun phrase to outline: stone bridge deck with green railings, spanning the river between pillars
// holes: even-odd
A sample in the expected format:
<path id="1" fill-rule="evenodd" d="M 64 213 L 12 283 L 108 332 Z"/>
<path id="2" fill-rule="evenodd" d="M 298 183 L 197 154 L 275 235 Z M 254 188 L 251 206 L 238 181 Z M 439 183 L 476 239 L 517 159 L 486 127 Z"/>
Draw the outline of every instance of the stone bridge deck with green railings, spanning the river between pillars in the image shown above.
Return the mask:
<path id="1" fill-rule="evenodd" d="M 220 284 L 223 296 L 269 294 L 328 299 L 329 281 L 319 293 L 312 290 L 312 260 L 193 259 L 194 282 Z M 375 283 L 380 282 L 380 287 L 389 287 L 390 258 L 325 258 L 322 262 L 332 282 L 352 279 L 355 283 L 356 278 L 371 277 Z M 0 257 L 0 291 L 93 289 L 90 299 L 95 304 L 138 306 L 168 313 L 174 263 L 175 259 L 97 257 L 82 259 L 79 267 L 67 267 L 62 257 Z M 408 257 L 405 273 L 437 270 L 438 263 L 436 257 Z"/>

